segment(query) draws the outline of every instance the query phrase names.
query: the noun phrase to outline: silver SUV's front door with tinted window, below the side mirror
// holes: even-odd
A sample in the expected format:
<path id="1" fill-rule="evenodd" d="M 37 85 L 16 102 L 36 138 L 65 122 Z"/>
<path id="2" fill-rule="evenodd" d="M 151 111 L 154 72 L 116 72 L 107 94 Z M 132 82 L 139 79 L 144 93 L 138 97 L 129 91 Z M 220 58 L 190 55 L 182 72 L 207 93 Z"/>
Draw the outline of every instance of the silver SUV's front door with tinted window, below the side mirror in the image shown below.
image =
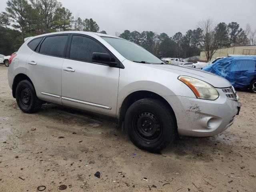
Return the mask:
<path id="1" fill-rule="evenodd" d="M 62 103 L 74 108 L 116 116 L 119 67 L 92 62 L 92 53 L 108 53 L 90 36 L 70 37 L 68 58 L 62 66 Z"/>

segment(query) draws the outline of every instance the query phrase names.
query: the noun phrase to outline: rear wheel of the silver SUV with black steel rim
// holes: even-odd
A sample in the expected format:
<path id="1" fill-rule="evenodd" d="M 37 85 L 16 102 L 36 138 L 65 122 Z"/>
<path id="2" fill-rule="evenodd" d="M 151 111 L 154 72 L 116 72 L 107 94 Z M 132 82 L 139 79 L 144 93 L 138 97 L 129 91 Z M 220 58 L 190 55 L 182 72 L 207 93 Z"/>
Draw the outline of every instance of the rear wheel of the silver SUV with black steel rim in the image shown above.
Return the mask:
<path id="1" fill-rule="evenodd" d="M 42 101 L 36 96 L 34 86 L 28 80 L 22 80 L 18 83 L 16 102 L 24 113 L 34 113 L 42 106 Z"/>

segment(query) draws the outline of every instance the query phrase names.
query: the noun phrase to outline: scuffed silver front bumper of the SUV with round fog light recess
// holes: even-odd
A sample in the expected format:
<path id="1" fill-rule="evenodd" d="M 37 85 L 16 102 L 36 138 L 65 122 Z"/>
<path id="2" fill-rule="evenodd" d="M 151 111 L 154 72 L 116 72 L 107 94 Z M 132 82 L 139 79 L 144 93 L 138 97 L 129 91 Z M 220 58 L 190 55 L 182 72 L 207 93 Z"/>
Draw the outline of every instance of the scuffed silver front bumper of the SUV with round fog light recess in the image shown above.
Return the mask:
<path id="1" fill-rule="evenodd" d="M 217 90 L 220 96 L 216 100 L 164 96 L 174 110 L 180 135 L 214 136 L 233 124 L 239 103 L 228 99 L 222 89 Z"/>

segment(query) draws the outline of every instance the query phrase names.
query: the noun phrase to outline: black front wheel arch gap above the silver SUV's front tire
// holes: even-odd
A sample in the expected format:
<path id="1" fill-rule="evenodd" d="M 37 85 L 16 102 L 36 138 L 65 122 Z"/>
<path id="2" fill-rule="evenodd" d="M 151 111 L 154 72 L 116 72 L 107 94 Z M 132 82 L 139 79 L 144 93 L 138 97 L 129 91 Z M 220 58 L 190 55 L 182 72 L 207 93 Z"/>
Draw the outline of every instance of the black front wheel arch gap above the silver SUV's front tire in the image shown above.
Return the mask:
<path id="1" fill-rule="evenodd" d="M 176 116 L 172 109 L 172 106 L 170 106 L 170 104 L 167 102 L 166 99 L 164 99 L 162 96 L 160 96 L 159 94 L 154 93 L 152 91 L 140 90 L 140 91 L 132 92 L 128 96 L 126 96 L 126 98 L 122 102 L 121 107 L 118 109 L 118 111 L 119 111 L 118 124 L 120 126 L 122 126 L 122 124 L 124 122 L 124 117 L 125 117 L 126 111 L 131 106 L 131 104 L 133 104 L 137 100 L 144 99 L 144 98 L 154 98 L 154 99 L 157 99 L 157 100 L 163 102 L 166 106 L 168 106 L 170 108 L 170 110 L 174 114 L 175 123 L 177 124 Z"/>

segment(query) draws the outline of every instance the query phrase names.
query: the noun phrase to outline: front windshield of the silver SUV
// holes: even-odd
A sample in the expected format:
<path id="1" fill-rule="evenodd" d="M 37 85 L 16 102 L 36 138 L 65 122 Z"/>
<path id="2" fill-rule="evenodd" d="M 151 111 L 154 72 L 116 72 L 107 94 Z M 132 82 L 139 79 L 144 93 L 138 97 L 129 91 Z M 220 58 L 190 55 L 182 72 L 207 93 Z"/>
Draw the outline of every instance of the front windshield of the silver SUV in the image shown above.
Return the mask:
<path id="1" fill-rule="evenodd" d="M 112 37 L 102 37 L 106 42 L 108 42 L 113 48 L 115 48 L 124 58 L 134 61 L 149 64 L 161 64 L 162 60 L 145 50 L 144 48 L 138 46 L 130 41 L 112 38 Z"/>

